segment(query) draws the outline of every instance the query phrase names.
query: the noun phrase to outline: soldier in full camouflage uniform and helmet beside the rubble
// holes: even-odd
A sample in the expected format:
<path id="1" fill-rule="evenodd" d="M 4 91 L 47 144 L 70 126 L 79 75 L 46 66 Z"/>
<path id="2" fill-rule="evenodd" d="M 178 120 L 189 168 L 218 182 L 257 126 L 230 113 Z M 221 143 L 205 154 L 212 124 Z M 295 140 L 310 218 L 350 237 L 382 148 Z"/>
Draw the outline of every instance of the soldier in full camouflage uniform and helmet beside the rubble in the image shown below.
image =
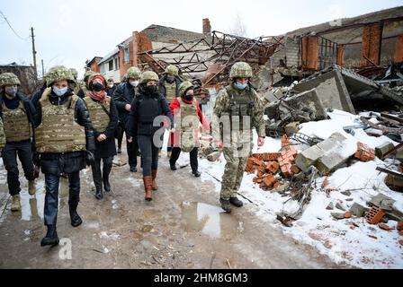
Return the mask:
<path id="1" fill-rule="evenodd" d="M 227 161 L 222 177 L 220 204 L 231 212 L 231 204 L 241 207 L 237 198 L 246 168 L 246 161 L 252 153 L 255 127 L 257 145 L 264 145 L 264 106 L 250 85 L 252 68 L 245 62 L 232 65 L 229 78 L 232 83 L 219 91 L 214 107 L 212 135 L 216 147 L 223 149 Z M 221 126 L 222 124 L 222 126 Z"/>

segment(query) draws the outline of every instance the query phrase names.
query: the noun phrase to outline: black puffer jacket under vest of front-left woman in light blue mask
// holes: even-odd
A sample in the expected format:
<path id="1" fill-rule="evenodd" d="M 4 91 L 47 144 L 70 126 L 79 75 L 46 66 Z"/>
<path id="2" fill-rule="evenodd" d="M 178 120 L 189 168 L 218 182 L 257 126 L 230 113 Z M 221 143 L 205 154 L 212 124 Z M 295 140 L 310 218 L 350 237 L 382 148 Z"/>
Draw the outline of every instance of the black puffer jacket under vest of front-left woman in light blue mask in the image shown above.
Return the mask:
<path id="1" fill-rule="evenodd" d="M 62 105 L 69 100 L 72 91 L 67 91 L 61 97 L 58 97 L 53 91 L 49 94 L 49 100 L 52 105 Z M 40 97 L 34 100 L 33 105 L 37 111 L 37 119 L 35 127 L 40 126 L 42 121 L 42 113 L 40 108 Z M 85 108 L 83 100 L 78 99 L 75 111 L 76 123 L 85 127 L 86 150 L 95 152 L 94 129 L 91 124 L 88 111 Z M 73 173 L 85 169 L 85 152 L 67 152 L 61 153 L 40 153 L 40 166 L 44 174 L 60 175 L 63 172 Z"/>

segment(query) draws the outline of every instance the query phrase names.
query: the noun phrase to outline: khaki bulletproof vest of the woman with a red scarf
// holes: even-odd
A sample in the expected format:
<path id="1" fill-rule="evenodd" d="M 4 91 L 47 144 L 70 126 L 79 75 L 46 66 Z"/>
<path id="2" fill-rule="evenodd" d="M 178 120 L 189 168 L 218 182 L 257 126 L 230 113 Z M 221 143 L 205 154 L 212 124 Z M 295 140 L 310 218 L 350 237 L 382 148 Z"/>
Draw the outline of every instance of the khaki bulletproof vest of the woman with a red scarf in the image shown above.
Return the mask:
<path id="1" fill-rule="evenodd" d="M 103 102 L 98 102 L 85 96 L 84 101 L 94 129 L 101 133 L 104 132 L 110 122 L 108 113 L 111 110 L 111 97 L 106 96 Z M 108 113 L 106 111 L 108 111 Z"/>

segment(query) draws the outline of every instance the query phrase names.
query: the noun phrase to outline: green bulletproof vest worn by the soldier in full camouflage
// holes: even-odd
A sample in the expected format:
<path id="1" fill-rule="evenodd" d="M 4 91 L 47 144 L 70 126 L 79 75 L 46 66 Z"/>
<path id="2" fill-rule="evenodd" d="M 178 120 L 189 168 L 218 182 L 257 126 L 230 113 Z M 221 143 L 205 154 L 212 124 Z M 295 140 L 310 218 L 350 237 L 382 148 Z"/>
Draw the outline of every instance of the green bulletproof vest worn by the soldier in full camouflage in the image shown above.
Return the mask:
<path id="1" fill-rule="evenodd" d="M 239 126 L 239 130 L 242 130 L 244 127 L 246 128 L 246 126 L 243 126 L 243 117 L 252 117 L 253 114 L 255 105 L 254 92 L 251 88 L 246 88 L 246 90 L 239 93 L 232 86 L 228 86 L 226 91 L 229 95 L 231 129 L 237 129 L 237 126 Z M 236 123 L 239 123 L 239 125 Z M 252 125 L 252 119 L 250 119 L 250 124 Z"/>

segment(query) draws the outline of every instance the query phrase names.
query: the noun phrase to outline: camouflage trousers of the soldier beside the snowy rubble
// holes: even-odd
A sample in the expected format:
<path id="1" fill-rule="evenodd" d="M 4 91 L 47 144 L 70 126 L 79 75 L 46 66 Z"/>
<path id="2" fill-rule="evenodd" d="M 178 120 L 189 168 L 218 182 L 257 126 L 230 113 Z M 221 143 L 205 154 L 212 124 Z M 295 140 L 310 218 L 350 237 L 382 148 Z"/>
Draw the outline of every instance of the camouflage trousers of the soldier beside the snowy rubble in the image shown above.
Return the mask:
<path id="1" fill-rule="evenodd" d="M 241 187 L 242 178 L 246 168 L 246 162 L 252 152 L 252 144 L 244 143 L 244 146 L 231 145 L 223 148 L 224 158 L 227 161 L 221 182 L 222 199 L 237 196 Z"/>

